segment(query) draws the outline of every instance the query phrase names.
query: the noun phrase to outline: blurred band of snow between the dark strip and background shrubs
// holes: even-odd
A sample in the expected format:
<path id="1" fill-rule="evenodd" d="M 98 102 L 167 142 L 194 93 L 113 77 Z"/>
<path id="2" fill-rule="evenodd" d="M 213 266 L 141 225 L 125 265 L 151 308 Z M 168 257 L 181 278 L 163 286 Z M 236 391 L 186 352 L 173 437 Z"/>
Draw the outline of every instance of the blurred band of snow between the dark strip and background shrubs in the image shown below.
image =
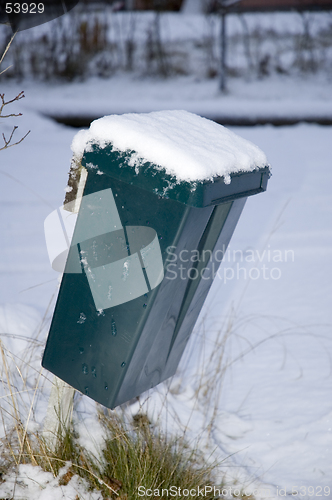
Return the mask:
<path id="1" fill-rule="evenodd" d="M 329 79 L 322 75 L 272 76 L 268 80 L 228 82 L 228 92 L 218 90 L 216 80 L 195 77 L 172 79 L 128 79 L 115 75 L 110 81 L 91 78 L 86 82 L 42 85 L 25 82 L 25 109 L 44 115 L 78 116 L 92 119 L 108 114 L 146 113 L 185 109 L 206 118 L 331 118 L 332 96 Z M 22 90 L 22 85 L 7 84 L 8 92 Z M 110 88 L 112 91 L 110 92 Z M 147 90 L 148 89 L 148 90 Z M 88 98 L 87 98 L 88 96 Z M 73 134 L 72 134 L 73 136 Z"/>

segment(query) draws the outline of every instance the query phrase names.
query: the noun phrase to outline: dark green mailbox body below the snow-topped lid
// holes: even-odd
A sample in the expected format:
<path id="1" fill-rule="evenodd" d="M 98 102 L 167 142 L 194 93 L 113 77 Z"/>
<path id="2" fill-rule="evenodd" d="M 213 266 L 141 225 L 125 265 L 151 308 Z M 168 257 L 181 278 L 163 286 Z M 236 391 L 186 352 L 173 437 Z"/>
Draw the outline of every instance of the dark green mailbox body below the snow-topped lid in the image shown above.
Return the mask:
<path id="1" fill-rule="evenodd" d="M 191 207 L 90 171 L 43 366 L 110 408 L 171 376 L 213 281 L 206 255 L 243 203 Z"/>

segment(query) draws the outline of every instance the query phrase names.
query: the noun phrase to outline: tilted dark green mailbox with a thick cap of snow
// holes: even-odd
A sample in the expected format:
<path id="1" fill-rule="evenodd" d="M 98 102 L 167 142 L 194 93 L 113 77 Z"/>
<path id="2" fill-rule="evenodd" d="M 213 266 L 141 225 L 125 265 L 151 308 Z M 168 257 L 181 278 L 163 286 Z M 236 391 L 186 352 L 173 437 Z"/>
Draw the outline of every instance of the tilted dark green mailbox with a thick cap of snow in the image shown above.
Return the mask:
<path id="1" fill-rule="evenodd" d="M 270 171 L 259 148 L 185 111 L 96 120 L 73 149 L 84 191 L 42 364 L 114 408 L 175 373 Z"/>

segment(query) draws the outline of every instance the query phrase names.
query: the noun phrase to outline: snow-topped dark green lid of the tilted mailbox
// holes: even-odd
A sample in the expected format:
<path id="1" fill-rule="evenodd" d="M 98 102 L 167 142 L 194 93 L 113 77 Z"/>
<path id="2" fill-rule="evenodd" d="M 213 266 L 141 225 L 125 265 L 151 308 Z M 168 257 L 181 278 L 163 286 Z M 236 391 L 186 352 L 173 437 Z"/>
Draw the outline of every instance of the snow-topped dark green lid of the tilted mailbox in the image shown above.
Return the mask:
<path id="1" fill-rule="evenodd" d="M 105 116 L 72 150 L 88 170 L 198 208 L 264 191 L 270 174 L 258 146 L 183 110 Z"/>

